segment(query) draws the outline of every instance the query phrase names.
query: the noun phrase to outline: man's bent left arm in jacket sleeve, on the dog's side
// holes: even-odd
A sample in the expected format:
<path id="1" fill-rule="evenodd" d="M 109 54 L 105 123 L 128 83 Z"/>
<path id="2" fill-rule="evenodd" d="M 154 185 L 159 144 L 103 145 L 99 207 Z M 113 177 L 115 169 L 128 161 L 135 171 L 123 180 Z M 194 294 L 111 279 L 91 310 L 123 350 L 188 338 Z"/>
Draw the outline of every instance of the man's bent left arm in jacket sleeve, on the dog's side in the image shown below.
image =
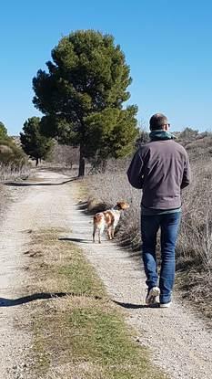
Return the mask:
<path id="1" fill-rule="evenodd" d="M 137 151 L 126 173 L 129 183 L 137 189 L 141 189 L 143 187 L 143 165 L 144 163 L 142 158 L 139 151 Z"/>

